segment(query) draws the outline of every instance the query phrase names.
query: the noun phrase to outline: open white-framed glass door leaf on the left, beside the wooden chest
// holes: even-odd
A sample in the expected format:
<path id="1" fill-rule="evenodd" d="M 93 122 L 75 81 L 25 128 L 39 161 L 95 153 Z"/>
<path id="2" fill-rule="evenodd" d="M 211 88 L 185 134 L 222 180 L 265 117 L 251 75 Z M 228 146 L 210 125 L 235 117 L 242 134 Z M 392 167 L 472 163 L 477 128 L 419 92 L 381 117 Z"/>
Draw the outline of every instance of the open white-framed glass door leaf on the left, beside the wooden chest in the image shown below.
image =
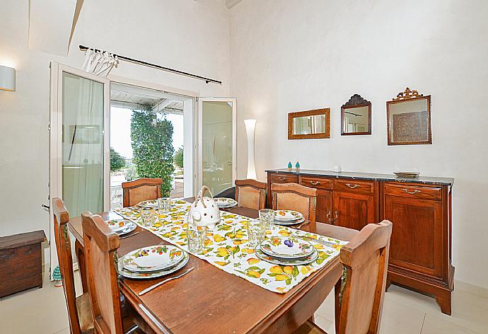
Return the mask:
<path id="1" fill-rule="evenodd" d="M 70 217 L 110 206 L 108 79 L 51 63 L 50 206 L 64 200 Z M 51 272 L 56 267 L 53 218 L 50 213 Z"/>

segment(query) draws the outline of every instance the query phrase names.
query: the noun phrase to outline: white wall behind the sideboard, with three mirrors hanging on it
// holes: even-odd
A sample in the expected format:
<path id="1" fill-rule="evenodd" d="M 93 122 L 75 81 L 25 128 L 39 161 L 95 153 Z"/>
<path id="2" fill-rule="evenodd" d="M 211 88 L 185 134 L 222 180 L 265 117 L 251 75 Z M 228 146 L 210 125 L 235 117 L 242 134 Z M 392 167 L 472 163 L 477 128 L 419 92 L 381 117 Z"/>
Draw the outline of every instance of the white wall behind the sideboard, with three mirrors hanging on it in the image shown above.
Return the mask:
<path id="1" fill-rule="evenodd" d="M 455 278 L 488 288 L 488 1 L 242 1 L 231 9 L 231 94 L 238 159 L 256 118 L 256 169 L 451 176 Z M 432 95 L 432 145 L 387 146 L 385 101 L 406 86 Z M 340 106 L 372 106 L 370 136 L 340 135 Z M 293 140 L 286 114 L 331 108 L 331 139 Z M 238 176 L 245 176 L 245 163 Z"/>

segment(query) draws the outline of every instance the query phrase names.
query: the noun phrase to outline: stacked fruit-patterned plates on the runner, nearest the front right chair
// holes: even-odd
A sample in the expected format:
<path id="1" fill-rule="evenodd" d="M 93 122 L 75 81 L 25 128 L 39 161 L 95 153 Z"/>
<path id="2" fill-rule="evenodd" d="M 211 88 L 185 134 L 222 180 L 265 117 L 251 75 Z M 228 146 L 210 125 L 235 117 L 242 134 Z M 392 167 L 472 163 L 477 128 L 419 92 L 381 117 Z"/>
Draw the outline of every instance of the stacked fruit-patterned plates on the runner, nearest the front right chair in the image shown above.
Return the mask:
<path id="1" fill-rule="evenodd" d="M 274 236 L 255 247 L 261 260 L 275 265 L 306 265 L 318 258 L 318 250 L 311 243 L 293 236 Z"/>

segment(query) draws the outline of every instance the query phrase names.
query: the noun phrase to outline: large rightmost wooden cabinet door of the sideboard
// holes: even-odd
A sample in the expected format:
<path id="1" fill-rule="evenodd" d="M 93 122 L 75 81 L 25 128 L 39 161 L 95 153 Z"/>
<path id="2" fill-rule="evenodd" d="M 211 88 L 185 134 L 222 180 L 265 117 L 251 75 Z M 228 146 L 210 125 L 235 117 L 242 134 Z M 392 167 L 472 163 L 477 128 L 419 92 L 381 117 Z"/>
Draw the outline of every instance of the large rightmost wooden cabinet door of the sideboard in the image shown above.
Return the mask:
<path id="1" fill-rule="evenodd" d="M 390 265 L 442 277 L 442 203 L 386 195 L 384 210 L 393 223 Z"/>

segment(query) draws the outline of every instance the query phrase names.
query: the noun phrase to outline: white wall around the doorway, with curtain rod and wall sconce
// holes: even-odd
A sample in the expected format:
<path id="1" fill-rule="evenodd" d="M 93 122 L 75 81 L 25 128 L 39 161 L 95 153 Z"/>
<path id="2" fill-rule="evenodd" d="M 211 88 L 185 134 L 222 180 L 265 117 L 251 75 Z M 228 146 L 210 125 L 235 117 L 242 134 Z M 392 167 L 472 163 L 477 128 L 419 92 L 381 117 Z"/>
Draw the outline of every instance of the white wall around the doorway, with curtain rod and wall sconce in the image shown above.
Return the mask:
<path id="1" fill-rule="evenodd" d="M 44 229 L 49 237 L 40 205 L 47 204 L 50 61 L 79 68 L 79 44 L 104 48 L 223 85 L 126 62 L 114 75 L 228 96 L 230 16 L 223 1 L 84 1 L 68 57 L 28 50 L 28 0 L 2 0 L 0 7 L 0 64 L 17 69 L 17 90 L 0 91 L 0 236 Z"/>

